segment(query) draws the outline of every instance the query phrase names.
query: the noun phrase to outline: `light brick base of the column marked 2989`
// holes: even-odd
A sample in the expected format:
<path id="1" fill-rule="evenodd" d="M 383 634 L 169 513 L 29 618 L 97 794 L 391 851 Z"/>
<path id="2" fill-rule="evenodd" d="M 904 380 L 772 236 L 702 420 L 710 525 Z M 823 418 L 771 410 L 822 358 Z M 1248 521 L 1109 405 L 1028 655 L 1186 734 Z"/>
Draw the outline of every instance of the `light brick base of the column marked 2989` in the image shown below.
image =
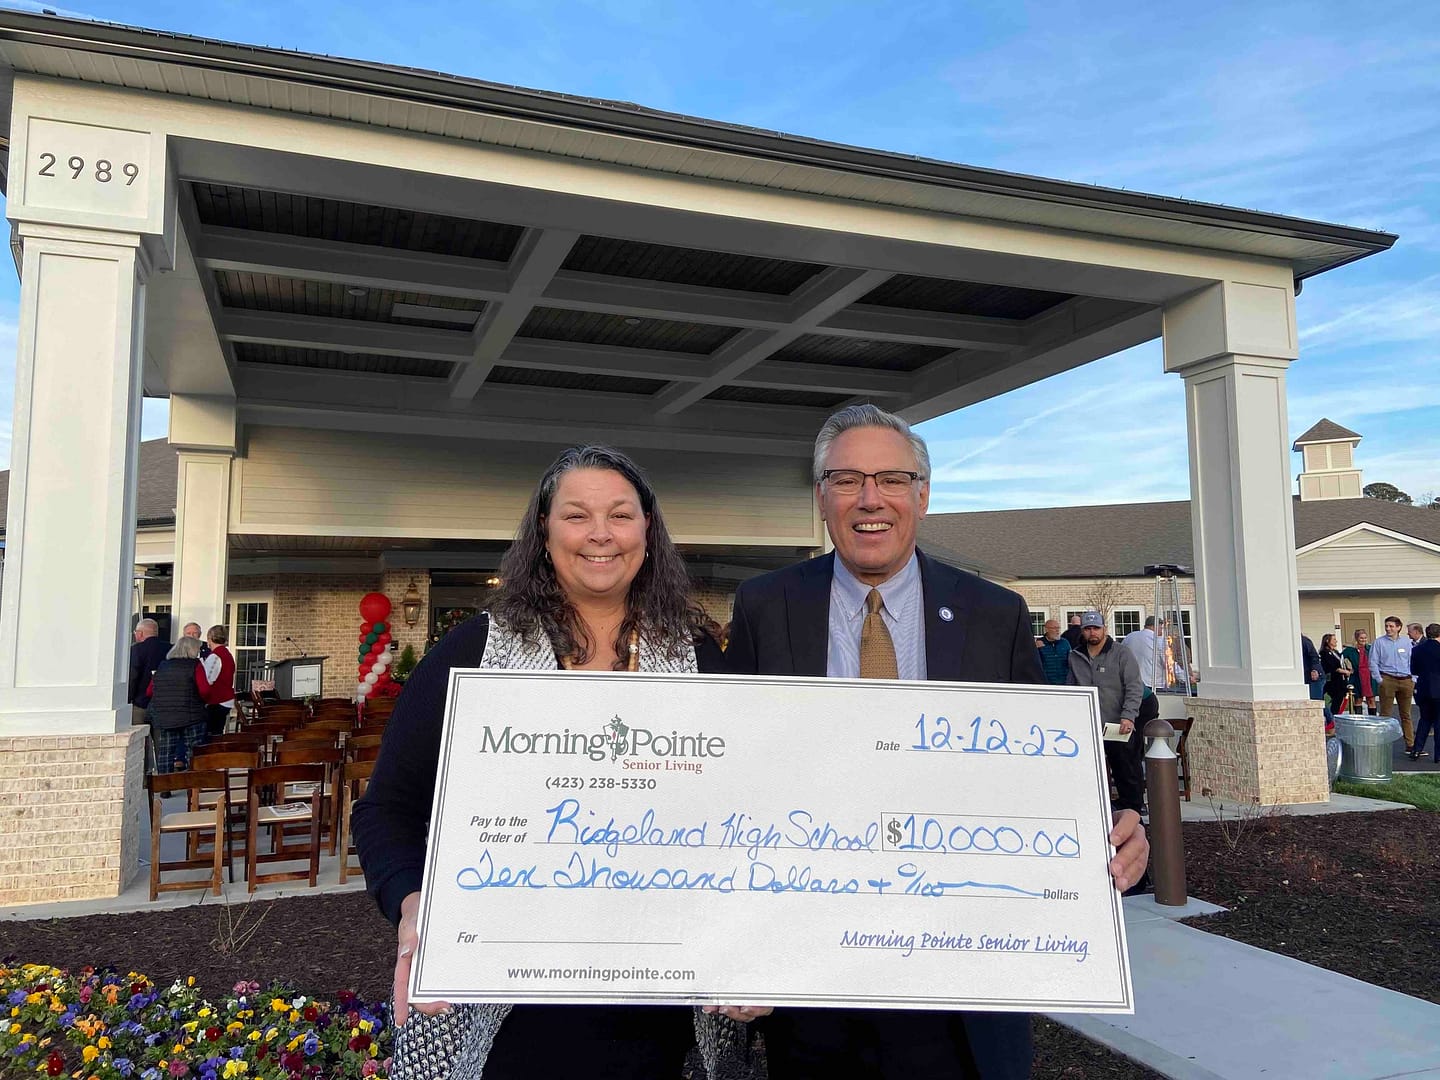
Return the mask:
<path id="1" fill-rule="evenodd" d="M 0 904 L 120 896 L 147 828 L 144 746 L 140 729 L 0 737 Z"/>

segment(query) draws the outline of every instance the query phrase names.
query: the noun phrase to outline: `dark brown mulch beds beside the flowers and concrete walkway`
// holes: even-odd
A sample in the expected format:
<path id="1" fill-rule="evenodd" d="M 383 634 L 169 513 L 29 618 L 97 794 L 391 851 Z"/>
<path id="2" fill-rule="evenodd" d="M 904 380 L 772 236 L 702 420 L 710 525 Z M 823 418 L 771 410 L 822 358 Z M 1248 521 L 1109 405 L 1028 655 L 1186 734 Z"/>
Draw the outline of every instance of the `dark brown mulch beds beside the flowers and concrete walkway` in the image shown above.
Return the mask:
<path id="1" fill-rule="evenodd" d="M 1210 933 L 1440 1004 L 1436 816 L 1421 811 L 1188 824 L 1191 896 L 1228 907 Z M 194 975 L 209 994 L 282 979 L 327 996 L 389 995 L 395 933 L 363 893 L 226 907 L 0 923 L 0 958 L 114 965 L 157 982 Z M 1035 1022 L 1035 1080 L 1158 1080 L 1067 1030 Z"/>

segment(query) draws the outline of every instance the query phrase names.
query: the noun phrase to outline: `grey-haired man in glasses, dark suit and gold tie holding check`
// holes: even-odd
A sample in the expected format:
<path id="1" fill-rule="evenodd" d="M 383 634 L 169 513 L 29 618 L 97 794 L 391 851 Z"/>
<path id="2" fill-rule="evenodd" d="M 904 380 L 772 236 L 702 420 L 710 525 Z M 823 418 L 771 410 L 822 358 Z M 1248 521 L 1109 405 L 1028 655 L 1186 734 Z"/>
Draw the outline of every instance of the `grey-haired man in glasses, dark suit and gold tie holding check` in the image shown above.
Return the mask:
<path id="1" fill-rule="evenodd" d="M 730 671 L 1044 683 L 1025 600 L 916 550 L 930 456 L 903 419 L 873 405 L 842 409 L 815 439 L 814 468 L 835 550 L 740 586 Z M 1110 841 L 1123 890 L 1149 857 L 1139 815 L 1120 811 Z M 1025 1014 L 782 1008 L 765 1032 L 772 1080 L 1030 1076 Z"/>

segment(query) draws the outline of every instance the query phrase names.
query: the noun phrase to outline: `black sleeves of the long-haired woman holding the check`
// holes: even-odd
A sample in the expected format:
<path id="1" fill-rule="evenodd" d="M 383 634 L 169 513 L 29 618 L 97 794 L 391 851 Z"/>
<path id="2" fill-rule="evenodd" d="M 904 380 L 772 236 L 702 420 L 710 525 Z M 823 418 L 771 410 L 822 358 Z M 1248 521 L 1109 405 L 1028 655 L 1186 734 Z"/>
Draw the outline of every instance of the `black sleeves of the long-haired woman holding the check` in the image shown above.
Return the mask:
<path id="1" fill-rule="evenodd" d="M 451 668 L 480 667 L 488 632 L 487 615 L 467 619 L 410 672 L 384 727 L 370 786 L 354 808 L 353 828 L 366 888 L 392 924 L 400 922 L 405 897 L 419 891 L 425 870 L 425 838 L 435 798 L 449 672 Z M 696 660 L 703 672 L 723 670 L 723 654 L 714 638 L 706 636 L 696 644 Z"/>

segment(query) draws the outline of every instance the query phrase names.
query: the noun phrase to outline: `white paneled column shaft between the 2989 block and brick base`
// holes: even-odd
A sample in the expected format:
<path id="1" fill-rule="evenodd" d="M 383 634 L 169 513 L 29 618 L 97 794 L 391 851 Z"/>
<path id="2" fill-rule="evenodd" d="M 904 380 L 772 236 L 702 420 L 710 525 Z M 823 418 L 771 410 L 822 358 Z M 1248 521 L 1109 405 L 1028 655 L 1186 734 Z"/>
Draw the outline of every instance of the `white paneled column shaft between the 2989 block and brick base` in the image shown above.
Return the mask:
<path id="1" fill-rule="evenodd" d="M 109 733 L 125 704 L 145 279 L 135 235 L 20 223 L 0 733 Z"/>

